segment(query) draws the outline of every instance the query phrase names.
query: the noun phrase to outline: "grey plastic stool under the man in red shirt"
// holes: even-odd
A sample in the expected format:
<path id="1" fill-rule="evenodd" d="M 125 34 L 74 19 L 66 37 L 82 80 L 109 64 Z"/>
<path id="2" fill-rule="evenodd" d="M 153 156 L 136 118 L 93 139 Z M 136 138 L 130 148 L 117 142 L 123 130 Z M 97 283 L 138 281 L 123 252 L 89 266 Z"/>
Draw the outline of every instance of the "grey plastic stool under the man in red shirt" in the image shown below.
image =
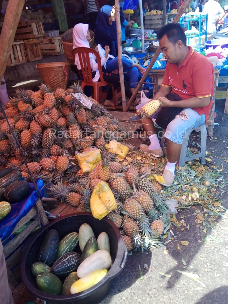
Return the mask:
<path id="1" fill-rule="evenodd" d="M 206 143 L 207 143 L 207 129 L 206 129 L 205 125 L 199 127 L 200 139 L 201 139 L 201 151 L 197 154 L 186 157 L 186 152 L 187 152 L 188 146 L 194 147 L 196 149 L 200 148 L 199 146 L 196 146 L 188 141 L 189 136 L 194 129 L 191 129 L 185 133 L 184 140 L 182 141 L 181 154 L 177 161 L 178 166 L 184 167 L 186 161 L 191 161 L 192 159 L 199 158 L 199 157 L 201 157 L 201 164 L 205 164 Z M 165 133 L 165 130 L 163 130 L 163 132 Z M 164 154 L 166 154 L 165 143 L 166 143 L 166 138 L 163 136 L 161 138 L 160 145 L 161 145 L 161 148 L 162 148 Z"/>

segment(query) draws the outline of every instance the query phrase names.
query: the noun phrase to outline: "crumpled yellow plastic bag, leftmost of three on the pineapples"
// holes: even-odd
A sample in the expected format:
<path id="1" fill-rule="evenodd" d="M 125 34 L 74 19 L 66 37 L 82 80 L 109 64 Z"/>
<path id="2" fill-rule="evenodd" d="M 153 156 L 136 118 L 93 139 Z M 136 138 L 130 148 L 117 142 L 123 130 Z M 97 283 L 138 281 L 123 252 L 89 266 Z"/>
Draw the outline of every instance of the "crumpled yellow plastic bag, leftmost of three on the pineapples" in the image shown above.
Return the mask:
<path id="1" fill-rule="evenodd" d="M 100 150 L 92 152 L 81 152 L 76 155 L 79 167 L 82 173 L 87 173 L 93 170 L 96 164 L 102 161 Z"/>

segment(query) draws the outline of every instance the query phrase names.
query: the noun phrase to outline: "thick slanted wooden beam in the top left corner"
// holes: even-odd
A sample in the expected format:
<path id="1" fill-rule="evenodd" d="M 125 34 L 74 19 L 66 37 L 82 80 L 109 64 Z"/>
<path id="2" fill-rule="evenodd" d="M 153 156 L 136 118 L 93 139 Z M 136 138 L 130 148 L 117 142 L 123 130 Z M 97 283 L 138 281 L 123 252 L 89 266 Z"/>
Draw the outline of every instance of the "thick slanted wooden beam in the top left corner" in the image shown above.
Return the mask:
<path id="1" fill-rule="evenodd" d="M 0 80 L 5 73 L 17 26 L 25 0 L 9 0 L 0 36 Z"/>

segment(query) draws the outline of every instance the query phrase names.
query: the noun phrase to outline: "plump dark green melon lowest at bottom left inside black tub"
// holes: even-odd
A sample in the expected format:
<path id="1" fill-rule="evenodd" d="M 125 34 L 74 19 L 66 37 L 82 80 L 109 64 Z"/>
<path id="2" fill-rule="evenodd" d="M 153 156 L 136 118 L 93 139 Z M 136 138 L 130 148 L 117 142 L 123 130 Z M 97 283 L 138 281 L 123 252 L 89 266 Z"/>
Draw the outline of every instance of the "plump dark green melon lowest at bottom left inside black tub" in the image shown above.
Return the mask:
<path id="1" fill-rule="evenodd" d="M 42 292 L 49 295 L 60 295 L 63 283 L 51 272 L 42 272 L 36 277 L 36 285 Z"/>

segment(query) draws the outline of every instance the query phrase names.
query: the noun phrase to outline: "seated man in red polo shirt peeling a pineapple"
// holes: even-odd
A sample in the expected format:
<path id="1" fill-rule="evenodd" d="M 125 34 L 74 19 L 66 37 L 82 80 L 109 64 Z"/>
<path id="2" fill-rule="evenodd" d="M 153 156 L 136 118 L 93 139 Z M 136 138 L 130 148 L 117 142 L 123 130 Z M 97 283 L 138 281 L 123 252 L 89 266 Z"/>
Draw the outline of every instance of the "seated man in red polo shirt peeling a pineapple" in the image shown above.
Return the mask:
<path id="1" fill-rule="evenodd" d="M 160 90 L 154 96 L 161 107 L 183 108 L 166 127 L 168 162 L 162 174 L 169 187 L 174 181 L 175 165 L 181 153 L 185 131 L 206 123 L 214 90 L 214 68 L 209 60 L 186 45 L 186 36 L 177 23 L 165 25 L 157 33 L 159 46 L 168 61 Z M 176 93 L 181 100 L 171 101 L 165 96 Z M 171 109 L 170 109 L 171 110 Z M 140 150 L 161 157 L 163 151 L 156 134 L 152 118 L 143 119 L 142 125 L 150 139 L 150 145 L 140 145 Z"/>

